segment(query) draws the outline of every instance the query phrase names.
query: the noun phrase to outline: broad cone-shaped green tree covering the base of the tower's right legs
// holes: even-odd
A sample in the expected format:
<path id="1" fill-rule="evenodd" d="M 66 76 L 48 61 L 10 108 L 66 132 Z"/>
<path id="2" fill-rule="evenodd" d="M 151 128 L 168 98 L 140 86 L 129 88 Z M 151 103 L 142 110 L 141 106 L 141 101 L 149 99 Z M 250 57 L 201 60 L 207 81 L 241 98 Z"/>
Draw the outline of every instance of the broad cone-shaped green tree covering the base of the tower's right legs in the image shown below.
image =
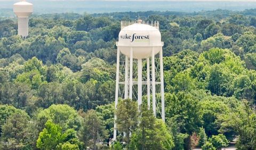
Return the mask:
<path id="1" fill-rule="evenodd" d="M 164 122 L 156 119 L 153 111 L 146 104 L 141 106 L 140 123 L 137 131 L 132 134 L 131 149 L 172 149 L 173 137 Z"/>

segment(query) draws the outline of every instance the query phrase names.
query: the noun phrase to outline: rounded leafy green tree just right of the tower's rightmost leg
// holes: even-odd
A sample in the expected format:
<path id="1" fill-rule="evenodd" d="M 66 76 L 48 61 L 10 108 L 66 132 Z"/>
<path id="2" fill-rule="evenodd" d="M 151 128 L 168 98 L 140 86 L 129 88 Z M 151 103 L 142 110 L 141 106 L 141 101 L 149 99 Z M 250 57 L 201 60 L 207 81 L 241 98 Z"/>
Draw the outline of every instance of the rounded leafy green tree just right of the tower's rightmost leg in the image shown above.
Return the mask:
<path id="1" fill-rule="evenodd" d="M 190 93 L 165 94 L 166 118 L 179 123 L 180 133 L 191 135 L 202 125 L 201 106 Z"/>

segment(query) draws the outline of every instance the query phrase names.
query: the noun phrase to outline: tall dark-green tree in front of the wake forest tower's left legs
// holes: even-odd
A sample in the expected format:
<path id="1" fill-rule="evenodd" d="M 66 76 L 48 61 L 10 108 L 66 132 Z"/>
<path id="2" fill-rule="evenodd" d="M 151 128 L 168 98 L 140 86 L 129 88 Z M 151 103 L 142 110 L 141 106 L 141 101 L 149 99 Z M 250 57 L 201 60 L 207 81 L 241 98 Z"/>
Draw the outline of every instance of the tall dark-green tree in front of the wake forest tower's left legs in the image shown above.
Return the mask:
<path id="1" fill-rule="evenodd" d="M 129 144 L 130 133 L 138 125 L 138 104 L 131 99 L 118 102 L 116 113 L 116 126 L 119 133 L 125 133 L 124 140 Z"/>

